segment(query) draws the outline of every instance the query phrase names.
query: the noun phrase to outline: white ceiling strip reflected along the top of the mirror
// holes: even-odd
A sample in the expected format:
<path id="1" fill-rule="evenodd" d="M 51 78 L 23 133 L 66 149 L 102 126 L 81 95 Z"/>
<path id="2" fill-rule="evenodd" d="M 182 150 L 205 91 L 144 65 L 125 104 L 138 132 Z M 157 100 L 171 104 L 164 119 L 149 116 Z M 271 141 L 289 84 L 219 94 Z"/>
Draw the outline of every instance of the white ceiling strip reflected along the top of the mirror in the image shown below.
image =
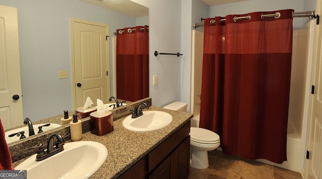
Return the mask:
<path id="1" fill-rule="evenodd" d="M 149 15 L 149 9 L 130 0 L 79 0 L 132 17 Z"/>

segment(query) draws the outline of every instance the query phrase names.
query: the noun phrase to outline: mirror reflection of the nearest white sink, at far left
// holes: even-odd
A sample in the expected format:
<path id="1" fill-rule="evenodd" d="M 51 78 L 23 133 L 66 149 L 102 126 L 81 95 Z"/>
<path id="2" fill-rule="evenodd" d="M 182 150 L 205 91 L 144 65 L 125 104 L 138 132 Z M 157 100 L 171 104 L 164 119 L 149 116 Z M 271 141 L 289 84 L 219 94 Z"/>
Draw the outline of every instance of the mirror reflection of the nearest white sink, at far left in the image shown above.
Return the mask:
<path id="1" fill-rule="evenodd" d="M 38 127 L 43 126 L 43 125 L 45 125 L 45 124 L 35 124 L 35 125 L 33 125 L 35 134 L 38 133 L 38 130 L 39 130 Z M 57 128 L 57 127 L 60 127 L 60 126 L 61 126 L 60 124 L 50 123 L 50 126 L 44 126 L 44 127 L 42 127 L 42 130 L 45 132 L 45 131 L 48 131 L 50 129 L 54 129 L 54 128 Z M 15 133 L 18 133 L 18 132 L 21 132 L 21 131 L 24 131 L 25 132 L 24 135 L 26 137 L 29 137 L 29 129 L 28 129 L 28 125 L 26 125 L 25 127 L 21 127 L 21 128 L 18 128 L 18 129 L 13 129 L 11 131 L 5 132 L 7 143 L 11 143 L 11 142 L 15 142 L 15 141 L 19 140 L 20 136 L 18 137 L 17 135 L 15 135 L 13 137 L 9 137 L 9 135 L 15 134 Z"/>

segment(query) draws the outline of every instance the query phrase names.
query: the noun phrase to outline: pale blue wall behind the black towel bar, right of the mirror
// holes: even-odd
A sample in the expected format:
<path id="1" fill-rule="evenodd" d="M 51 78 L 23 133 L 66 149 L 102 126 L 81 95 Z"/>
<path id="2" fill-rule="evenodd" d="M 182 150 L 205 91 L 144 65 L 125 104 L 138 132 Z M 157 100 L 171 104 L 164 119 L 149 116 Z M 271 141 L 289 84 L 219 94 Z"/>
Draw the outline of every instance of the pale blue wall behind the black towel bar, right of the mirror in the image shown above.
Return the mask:
<path id="1" fill-rule="evenodd" d="M 149 91 L 152 105 L 163 107 L 181 96 L 181 57 L 154 56 L 154 51 L 177 53 L 181 51 L 181 0 L 131 0 L 150 10 L 149 24 Z M 185 54 L 184 54 L 185 55 Z M 153 86 L 153 75 L 158 84 Z"/>

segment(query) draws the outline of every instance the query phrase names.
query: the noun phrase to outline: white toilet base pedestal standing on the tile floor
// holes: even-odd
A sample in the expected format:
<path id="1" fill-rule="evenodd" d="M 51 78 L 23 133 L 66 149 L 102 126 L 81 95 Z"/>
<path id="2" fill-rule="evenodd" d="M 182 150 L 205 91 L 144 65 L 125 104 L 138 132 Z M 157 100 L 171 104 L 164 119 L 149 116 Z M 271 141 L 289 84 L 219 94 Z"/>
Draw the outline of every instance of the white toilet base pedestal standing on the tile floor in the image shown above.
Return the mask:
<path id="1" fill-rule="evenodd" d="M 205 169 L 209 166 L 208 152 L 191 149 L 191 163 L 190 166 L 197 169 Z"/>

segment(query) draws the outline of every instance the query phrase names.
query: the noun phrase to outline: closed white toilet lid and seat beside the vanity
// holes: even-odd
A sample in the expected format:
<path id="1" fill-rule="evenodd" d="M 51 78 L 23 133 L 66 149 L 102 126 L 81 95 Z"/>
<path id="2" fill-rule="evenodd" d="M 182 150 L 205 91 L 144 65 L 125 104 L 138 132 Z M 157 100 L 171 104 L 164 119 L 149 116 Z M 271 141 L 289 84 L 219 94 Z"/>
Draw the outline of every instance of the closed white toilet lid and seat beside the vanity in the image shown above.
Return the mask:
<path id="1" fill-rule="evenodd" d="M 219 141 L 219 135 L 207 129 L 191 127 L 190 139 L 200 143 L 216 143 Z"/>

